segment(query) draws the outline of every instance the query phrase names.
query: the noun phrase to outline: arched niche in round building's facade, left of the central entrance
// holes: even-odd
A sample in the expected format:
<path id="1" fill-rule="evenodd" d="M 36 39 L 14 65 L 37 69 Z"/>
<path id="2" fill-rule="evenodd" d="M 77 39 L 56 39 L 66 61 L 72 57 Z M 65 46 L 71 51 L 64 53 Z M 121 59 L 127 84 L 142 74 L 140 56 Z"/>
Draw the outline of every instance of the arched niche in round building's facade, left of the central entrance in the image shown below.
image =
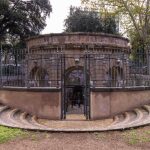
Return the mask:
<path id="1" fill-rule="evenodd" d="M 35 66 L 30 72 L 30 86 L 47 87 L 49 81 L 48 72 L 46 69 Z"/>

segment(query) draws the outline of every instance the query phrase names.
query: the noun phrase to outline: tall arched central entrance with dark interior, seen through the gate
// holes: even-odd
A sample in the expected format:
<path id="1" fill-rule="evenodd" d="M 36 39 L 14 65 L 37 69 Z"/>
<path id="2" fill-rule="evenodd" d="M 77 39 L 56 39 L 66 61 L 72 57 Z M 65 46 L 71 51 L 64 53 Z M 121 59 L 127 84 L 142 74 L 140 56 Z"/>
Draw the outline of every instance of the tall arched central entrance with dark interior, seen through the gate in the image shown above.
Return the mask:
<path id="1" fill-rule="evenodd" d="M 65 73 L 67 114 L 84 114 L 84 68 L 70 67 Z"/>

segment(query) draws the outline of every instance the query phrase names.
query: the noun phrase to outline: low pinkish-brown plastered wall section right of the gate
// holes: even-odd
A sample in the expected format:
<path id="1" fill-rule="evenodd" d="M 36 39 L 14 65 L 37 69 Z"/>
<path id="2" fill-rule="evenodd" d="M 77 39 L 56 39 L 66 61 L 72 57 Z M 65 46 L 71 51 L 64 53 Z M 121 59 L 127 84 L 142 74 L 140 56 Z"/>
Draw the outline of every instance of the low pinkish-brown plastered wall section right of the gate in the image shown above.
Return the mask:
<path id="1" fill-rule="evenodd" d="M 90 103 L 91 119 L 108 118 L 150 104 L 150 88 L 92 89 Z"/>

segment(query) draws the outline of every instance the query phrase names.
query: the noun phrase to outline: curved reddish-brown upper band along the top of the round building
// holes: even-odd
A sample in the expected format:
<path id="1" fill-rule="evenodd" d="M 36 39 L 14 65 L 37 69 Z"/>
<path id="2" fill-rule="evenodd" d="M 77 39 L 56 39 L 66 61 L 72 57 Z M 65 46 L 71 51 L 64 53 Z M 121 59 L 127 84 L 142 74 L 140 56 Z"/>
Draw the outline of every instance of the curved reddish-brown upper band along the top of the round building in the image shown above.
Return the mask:
<path id="1" fill-rule="evenodd" d="M 128 40 L 121 36 L 103 33 L 60 33 L 31 37 L 27 40 L 28 48 L 35 46 L 64 44 L 98 44 L 101 46 L 128 47 Z"/>

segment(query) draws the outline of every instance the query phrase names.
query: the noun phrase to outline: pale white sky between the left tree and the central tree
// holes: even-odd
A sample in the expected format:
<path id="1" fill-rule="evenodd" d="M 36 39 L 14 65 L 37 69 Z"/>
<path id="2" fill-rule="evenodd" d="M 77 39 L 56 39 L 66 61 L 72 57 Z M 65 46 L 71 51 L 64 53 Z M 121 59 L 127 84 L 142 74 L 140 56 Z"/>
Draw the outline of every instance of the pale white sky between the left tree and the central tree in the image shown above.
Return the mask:
<path id="1" fill-rule="evenodd" d="M 63 32 L 64 20 L 69 14 L 70 6 L 80 6 L 80 0 L 50 0 L 52 13 L 47 18 L 47 26 L 42 34 L 61 33 Z"/>

